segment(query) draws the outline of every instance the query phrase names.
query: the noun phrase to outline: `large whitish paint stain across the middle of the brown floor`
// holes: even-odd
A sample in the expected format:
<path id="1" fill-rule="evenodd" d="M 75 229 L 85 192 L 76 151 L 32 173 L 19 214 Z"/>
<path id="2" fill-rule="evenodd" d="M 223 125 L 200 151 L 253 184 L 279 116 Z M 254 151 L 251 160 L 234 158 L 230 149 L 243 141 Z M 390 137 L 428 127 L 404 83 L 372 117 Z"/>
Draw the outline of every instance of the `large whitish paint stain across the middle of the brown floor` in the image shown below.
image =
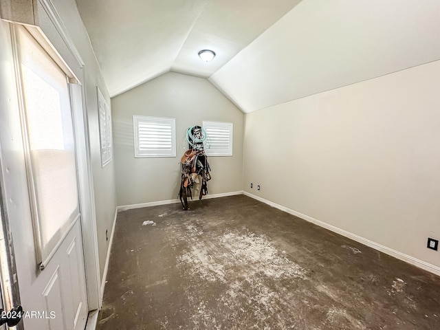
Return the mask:
<path id="1" fill-rule="evenodd" d="M 177 266 L 183 276 L 195 278 L 196 283 L 221 284 L 223 292 L 217 296 L 213 311 L 208 301 L 199 299 L 197 284 L 186 287 L 188 299 L 198 305 L 190 316 L 194 329 L 221 329 L 224 319 L 241 320 L 240 325 L 230 324 L 231 329 L 261 325 L 289 329 L 291 317 L 284 314 L 298 301 L 281 283 L 304 280 L 307 271 L 277 250 L 265 235 L 256 235 L 248 228 L 227 230 L 209 242 L 195 235 L 203 233 L 188 230 L 184 239 L 192 244 L 177 258 Z"/>

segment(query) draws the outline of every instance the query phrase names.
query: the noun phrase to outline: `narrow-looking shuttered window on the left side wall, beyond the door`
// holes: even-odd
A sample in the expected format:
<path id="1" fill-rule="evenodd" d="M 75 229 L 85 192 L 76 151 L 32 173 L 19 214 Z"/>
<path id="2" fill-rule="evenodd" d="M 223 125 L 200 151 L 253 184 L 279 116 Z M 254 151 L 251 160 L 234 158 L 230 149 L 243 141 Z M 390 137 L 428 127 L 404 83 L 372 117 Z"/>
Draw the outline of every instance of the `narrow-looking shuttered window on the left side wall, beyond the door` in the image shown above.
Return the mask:
<path id="1" fill-rule="evenodd" d="M 104 167 L 111 162 L 112 143 L 111 143 L 111 111 L 109 104 L 105 102 L 104 96 L 98 87 L 98 112 L 99 112 L 99 132 L 101 142 L 101 166 Z"/>

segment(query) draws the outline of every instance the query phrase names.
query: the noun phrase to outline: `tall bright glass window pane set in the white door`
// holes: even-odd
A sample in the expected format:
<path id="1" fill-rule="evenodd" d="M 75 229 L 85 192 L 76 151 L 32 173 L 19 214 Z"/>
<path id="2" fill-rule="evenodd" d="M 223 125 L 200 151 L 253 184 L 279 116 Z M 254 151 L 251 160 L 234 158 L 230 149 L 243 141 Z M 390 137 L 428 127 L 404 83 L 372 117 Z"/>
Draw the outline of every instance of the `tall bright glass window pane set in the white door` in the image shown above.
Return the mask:
<path id="1" fill-rule="evenodd" d="M 67 83 L 74 77 L 47 54 L 28 30 L 17 25 L 14 31 L 36 258 L 42 265 L 80 217 Z"/>

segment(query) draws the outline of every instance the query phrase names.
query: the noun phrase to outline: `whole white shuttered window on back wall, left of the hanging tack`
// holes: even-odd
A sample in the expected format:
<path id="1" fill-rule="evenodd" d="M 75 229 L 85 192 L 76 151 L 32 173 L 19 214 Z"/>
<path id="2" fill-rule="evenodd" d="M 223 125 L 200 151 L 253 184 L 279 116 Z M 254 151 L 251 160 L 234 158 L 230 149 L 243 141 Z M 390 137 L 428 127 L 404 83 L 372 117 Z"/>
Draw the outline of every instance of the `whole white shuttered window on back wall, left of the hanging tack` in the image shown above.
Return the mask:
<path id="1" fill-rule="evenodd" d="M 176 157 L 175 119 L 133 115 L 135 157 Z"/>

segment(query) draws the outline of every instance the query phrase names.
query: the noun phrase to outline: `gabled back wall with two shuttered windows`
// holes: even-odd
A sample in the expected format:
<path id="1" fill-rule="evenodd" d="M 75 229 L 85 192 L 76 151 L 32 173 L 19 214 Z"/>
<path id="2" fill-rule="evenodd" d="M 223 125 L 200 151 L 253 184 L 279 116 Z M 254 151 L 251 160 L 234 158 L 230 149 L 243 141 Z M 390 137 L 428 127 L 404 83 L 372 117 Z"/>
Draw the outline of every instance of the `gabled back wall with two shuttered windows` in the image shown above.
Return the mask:
<path id="1" fill-rule="evenodd" d="M 208 80 L 169 72 L 112 98 L 111 109 L 118 205 L 176 199 L 186 130 L 203 120 L 234 124 L 234 155 L 208 157 L 209 193 L 242 190 L 244 115 Z M 133 115 L 175 118 L 177 157 L 135 158 Z"/>

